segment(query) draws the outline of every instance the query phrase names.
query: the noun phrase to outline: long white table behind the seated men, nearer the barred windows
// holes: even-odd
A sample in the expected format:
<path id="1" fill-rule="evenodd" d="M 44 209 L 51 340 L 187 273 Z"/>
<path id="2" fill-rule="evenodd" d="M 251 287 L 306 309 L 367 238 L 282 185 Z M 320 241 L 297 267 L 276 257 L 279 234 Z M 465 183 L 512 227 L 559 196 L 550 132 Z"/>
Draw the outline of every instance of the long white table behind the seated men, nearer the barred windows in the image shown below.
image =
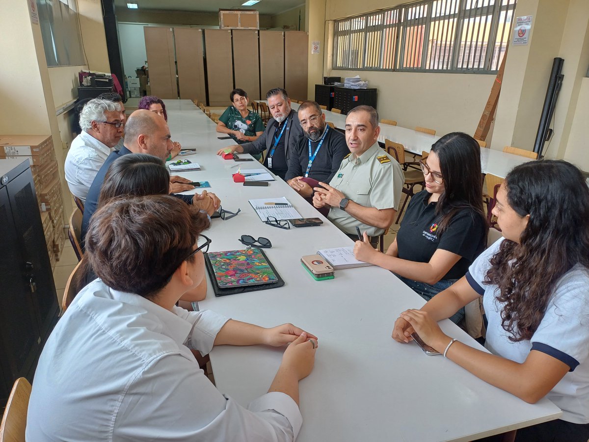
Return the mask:
<path id="1" fill-rule="evenodd" d="M 262 100 L 261 100 L 262 101 Z M 264 101 L 264 103 L 267 103 Z M 298 103 L 292 103 L 294 110 L 299 109 Z M 333 125 L 341 130 L 346 128 L 346 116 L 337 114 L 332 111 L 323 110 L 325 114 L 325 121 L 333 123 Z M 385 144 L 385 140 L 391 140 L 395 143 L 403 144 L 406 151 L 421 155 L 423 151 L 429 152 L 432 144 L 439 140 L 439 136 L 430 135 L 409 129 L 401 126 L 392 126 L 391 124 L 380 123 L 380 135 L 378 137 L 379 143 Z M 490 173 L 500 178 L 505 178 L 508 171 L 519 164 L 531 161 L 529 158 L 521 157 L 511 153 L 505 153 L 494 149 L 481 149 L 481 171 L 482 173 Z"/>

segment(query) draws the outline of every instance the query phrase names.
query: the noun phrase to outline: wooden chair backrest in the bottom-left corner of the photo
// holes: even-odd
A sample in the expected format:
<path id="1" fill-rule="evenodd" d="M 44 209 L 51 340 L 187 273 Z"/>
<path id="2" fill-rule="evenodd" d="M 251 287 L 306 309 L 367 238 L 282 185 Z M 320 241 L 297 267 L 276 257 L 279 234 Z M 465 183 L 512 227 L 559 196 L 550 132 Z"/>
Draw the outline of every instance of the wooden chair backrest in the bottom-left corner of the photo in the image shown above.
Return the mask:
<path id="1" fill-rule="evenodd" d="M 25 441 L 31 388 L 31 384 L 25 378 L 18 378 L 14 382 L 0 424 L 0 442 Z"/>

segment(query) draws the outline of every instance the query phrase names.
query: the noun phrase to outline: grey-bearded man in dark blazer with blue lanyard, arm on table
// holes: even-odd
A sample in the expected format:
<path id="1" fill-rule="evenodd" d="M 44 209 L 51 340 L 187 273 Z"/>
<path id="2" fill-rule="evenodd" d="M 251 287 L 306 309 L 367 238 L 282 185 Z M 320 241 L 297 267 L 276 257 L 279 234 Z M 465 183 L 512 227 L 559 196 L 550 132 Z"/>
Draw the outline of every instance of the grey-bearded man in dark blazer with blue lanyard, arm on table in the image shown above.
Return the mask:
<path id="1" fill-rule="evenodd" d="M 264 133 L 252 143 L 225 147 L 219 150 L 218 154 L 223 155 L 228 152 L 257 154 L 267 150 L 264 166 L 284 179 L 289 169 L 288 160 L 291 155 L 297 154 L 299 141 L 303 138 L 303 130 L 296 111 L 290 107 L 290 99 L 284 89 L 272 89 L 268 91 L 266 98 L 272 118 L 268 121 Z"/>

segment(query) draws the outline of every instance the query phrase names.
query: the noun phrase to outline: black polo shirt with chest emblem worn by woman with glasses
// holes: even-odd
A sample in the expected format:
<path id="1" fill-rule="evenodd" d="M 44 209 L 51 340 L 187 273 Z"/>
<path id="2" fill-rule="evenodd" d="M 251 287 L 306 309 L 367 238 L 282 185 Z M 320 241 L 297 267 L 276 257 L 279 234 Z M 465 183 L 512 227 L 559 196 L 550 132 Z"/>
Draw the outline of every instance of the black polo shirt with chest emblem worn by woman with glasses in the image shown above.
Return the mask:
<path id="1" fill-rule="evenodd" d="M 397 233 L 398 256 L 413 262 L 429 262 L 436 250 L 448 250 L 461 258 L 441 279 L 462 278 L 487 245 L 485 220 L 474 210 L 463 209 L 440 235 L 438 224 L 442 214 L 436 215 L 436 203 L 428 203 L 430 196 L 422 190 L 409 202 Z"/>

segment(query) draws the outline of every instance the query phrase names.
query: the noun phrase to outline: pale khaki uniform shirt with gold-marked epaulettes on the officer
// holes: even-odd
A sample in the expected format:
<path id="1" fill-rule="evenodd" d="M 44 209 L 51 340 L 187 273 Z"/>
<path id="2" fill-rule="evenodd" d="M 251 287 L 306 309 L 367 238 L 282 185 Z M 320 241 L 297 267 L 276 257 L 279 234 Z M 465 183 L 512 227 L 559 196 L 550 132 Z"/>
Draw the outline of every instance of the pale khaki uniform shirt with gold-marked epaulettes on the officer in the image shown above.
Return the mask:
<path id="1" fill-rule="evenodd" d="M 404 181 L 398 161 L 375 143 L 360 157 L 350 154 L 343 159 L 329 185 L 356 204 L 381 210 L 399 207 Z M 350 235 L 356 234 L 356 226 L 368 236 L 378 236 L 385 231 L 360 222 L 339 207 L 331 207 L 327 217 Z"/>

